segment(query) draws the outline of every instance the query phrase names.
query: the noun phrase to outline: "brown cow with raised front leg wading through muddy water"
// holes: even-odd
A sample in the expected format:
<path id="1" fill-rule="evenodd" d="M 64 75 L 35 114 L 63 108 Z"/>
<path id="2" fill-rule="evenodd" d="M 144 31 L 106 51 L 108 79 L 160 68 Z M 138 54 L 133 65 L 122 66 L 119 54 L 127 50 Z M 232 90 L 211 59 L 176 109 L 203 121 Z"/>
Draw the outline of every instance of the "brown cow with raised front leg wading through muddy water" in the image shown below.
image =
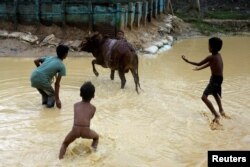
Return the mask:
<path id="1" fill-rule="evenodd" d="M 95 64 L 101 65 L 104 68 L 110 68 L 111 80 L 114 80 L 115 70 L 118 70 L 122 89 L 126 83 L 125 73 L 130 70 L 134 77 L 136 92 L 139 93 L 138 55 L 132 45 L 126 40 L 110 39 L 95 32 L 91 37 L 86 37 L 86 42 L 83 44 L 81 50 L 91 52 L 95 57 L 92 61 L 92 66 L 96 76 L 99 73 L 96 71 Z"/>

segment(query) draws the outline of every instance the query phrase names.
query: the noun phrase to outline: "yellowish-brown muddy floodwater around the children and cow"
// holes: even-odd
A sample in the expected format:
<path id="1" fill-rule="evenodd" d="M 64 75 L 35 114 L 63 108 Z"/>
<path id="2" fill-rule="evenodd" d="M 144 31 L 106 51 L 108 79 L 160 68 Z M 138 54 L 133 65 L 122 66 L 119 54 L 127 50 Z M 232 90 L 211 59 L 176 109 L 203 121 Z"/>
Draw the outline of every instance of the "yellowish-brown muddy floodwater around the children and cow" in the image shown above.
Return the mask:
<path id="1" fill-rule="evenodd" d="M 180 55 L 192 60 L 207 56 L 207 38 L 179 41 L 157 58 L 140 57 L 143 91 L 135 92 L 130 74 L 124 90 L 120 79 L 97 66 L 92 57 L 67 58 L 62 79 L 62 109 L 47 109 L 30 87 L 33 59 L 0 58 L 0 161 L 3 166 L 151 167 L 207 166 L 208 150 L 250 149 L 250 38 L 223 38 L 224 110 L 232 120 L 212 131 L 213 118 L 200 96 L 209 69 L 192 71 Z M 72 127 L 73 104 L 86 80 L 96 86 L 97 113 L 92 128 L 100 134 L 97 152 L 91 141 L 77 139 L 65 159 L 58 160 L 61 142 Z M 212 98 L 210 98 L 215 104 Z M 217 109 L 217 108 L 216 108 Z"/>

